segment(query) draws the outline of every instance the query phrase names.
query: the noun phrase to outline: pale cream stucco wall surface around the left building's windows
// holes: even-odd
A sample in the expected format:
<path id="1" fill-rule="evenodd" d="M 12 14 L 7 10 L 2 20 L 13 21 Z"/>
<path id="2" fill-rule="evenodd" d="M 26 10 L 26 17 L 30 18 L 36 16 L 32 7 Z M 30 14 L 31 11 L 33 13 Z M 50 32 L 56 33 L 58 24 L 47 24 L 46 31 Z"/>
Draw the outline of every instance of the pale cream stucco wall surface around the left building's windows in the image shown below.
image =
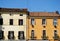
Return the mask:
<path id="1" fill-rule="evenodd" d="M 18 39 L 18 31 L 24 31 L 24 35 L 26 38 L 26 14 L 20 16 L 20 13 L 12 13 L 12 15 L 10 16 L 10 13 L 3 13 L 1 14 L 1 16 L 3 18 L 3 25 L 1 25 L 1 27 L 4 31 L 5 39 L 8 39 L 8 31 L 14 31 L 15 39 Z M 9 24 L 10 19 L 13 19 L 13 25 Z M 23 19 L 23 25 L 18 25 L 19 19 Z"/>

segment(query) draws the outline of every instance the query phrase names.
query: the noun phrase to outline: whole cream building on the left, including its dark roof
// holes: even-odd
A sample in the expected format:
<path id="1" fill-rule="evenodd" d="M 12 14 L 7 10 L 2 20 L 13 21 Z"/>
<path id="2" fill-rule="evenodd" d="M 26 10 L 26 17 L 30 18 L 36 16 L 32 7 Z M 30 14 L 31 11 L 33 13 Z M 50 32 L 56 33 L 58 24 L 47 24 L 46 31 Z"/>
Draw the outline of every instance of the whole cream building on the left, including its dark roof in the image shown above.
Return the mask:
<path id="1" fill-rule="evenodd" d="M 0 8 L 0 39 L 26 40 L 27 9 Z"/>

